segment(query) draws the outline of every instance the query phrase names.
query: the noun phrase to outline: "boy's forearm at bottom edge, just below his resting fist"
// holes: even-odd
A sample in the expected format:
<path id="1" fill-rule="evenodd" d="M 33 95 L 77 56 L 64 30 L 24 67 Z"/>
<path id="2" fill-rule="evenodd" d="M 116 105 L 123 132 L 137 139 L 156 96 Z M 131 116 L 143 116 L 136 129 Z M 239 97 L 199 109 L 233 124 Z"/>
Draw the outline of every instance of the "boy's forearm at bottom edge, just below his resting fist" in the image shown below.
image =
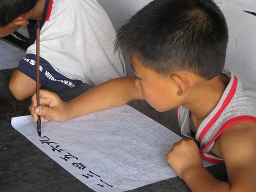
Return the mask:
<path id="1" fill-rule="evenodd" d="M 193 192 L 231 191 L 228 182 L 217 180 L 203 166 L 187 168 L 182 178 Z"/>

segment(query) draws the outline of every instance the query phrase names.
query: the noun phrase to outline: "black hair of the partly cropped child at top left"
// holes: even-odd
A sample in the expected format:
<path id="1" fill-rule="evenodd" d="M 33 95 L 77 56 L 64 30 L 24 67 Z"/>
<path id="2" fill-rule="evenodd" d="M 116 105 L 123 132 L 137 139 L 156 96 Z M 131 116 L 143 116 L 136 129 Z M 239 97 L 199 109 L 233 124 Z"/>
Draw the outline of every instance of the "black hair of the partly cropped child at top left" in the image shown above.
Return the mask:
<path id="1" fill-rule="evenodd" d="M 0 0 L 0 26 L 31 10 L 38 0 Z"/>

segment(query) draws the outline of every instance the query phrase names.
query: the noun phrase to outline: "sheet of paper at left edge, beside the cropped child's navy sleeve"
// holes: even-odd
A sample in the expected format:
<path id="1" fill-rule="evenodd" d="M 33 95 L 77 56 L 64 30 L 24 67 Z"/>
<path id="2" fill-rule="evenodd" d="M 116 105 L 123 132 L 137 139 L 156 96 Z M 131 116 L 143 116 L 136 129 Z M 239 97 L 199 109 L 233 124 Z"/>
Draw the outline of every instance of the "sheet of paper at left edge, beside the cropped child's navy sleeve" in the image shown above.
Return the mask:
<path id="1" fill-rule="evenodd" d="M 0 40 L 0 69 L 17 67 L 24 56 L 25 51 Z"/>

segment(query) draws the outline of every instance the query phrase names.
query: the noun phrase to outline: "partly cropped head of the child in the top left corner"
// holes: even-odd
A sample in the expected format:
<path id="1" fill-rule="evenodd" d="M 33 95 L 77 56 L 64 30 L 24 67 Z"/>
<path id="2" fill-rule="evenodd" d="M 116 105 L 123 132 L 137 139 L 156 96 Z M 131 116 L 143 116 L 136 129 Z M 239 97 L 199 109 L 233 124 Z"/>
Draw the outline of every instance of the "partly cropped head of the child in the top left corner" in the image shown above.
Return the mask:
<path id="1" fill-rule="evenodd" d="M 14 32 L 18 25 L 22 25 L 20 19 L 15 19 L 30 11 L 37 2 L 38 0 L 0 0 L 0 36 Z M 15 25 L 13 21 L 17 21 Z"/>

